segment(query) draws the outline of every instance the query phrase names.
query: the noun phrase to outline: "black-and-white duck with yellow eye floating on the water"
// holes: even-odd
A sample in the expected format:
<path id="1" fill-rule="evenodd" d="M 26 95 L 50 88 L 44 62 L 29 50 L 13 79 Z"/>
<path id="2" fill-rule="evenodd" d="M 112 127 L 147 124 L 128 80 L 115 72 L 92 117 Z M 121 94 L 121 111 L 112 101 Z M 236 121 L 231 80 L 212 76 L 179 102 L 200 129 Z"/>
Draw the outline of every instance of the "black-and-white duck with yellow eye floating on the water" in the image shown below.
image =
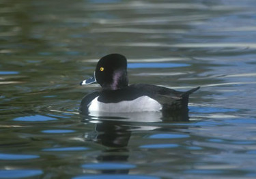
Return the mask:
<path id="1" fill-rule="evenodd" d="M 170 114 L 188 111 L 188 97 L 200 86 L 189 91 L 154 84 L 128 84 L 127 59 L 122 54 L 108 54 L 97 63 L 94 75 L 81 85 L 98 82 L 101 89 L 85 95 L 80 113 L 115 114 L 133 112 L 162 112 Z"/>

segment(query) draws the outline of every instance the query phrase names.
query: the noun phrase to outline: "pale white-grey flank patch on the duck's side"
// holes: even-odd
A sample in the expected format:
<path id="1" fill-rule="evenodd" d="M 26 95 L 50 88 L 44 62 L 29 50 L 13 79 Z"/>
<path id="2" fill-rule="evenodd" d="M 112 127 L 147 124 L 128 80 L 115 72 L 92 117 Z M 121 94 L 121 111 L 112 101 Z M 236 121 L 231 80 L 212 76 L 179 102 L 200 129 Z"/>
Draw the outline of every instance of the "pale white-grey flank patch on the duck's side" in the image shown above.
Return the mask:
<path id="1" fill-rule="evenodd" d="M 142 96 L 132 101 L 121 101 L 118 103 L 102 103 L 96 97 L 89 105 L 89 112 L 158 112 L 162 109 L 156 100 Z"/>

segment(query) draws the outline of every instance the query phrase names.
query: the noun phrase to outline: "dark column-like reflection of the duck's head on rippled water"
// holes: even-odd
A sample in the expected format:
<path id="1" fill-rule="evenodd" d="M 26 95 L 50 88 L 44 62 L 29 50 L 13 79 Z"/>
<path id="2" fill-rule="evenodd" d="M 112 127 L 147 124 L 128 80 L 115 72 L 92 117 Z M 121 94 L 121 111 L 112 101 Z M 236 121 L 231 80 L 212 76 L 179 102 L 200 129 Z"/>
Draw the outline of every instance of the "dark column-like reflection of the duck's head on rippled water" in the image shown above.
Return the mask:
<path id="1" fill-rule="evenodd" d="M 102 169 L 102 174 L 128 174 L 130 168 L 122 168 L 119 165 L 128 163 L 128 142 L 132 129 L 126 122 L 102 120 L 96 124 L 97 137 L 94 139 L 98 144 L 106 146 L 106 150 L 97 157 L 97 163 L 108 165 L 116 163 L 113 168 Z"/>

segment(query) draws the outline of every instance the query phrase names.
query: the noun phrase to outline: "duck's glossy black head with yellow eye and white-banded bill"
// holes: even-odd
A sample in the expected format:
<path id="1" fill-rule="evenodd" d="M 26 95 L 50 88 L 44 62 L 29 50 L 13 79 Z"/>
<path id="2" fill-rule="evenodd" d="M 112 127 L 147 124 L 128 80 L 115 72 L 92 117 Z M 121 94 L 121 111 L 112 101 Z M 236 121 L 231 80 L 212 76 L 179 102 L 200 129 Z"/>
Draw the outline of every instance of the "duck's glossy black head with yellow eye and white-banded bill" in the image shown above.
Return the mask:
<path id="1" fill-rule="evenodd" d="M 103 89 L 116 90 L 128 86 L 127 61 L 122 54 L 103 56 L 96 66 L 94 76 L 83 80 L 81 85 L 98 82 Z"/>

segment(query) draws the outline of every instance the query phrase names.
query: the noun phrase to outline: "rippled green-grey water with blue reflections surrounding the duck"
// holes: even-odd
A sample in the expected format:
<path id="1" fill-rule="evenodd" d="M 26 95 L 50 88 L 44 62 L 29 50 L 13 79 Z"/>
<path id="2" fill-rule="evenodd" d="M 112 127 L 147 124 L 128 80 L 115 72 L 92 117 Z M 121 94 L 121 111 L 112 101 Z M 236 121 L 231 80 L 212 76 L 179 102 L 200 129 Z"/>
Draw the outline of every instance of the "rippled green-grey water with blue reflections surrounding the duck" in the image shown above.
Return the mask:
<path id="1" fill-rule="evenodd" d="M 0 178 L 256 178 L 255 6 L 1 0 Z M 201 86 L 189 121 L 80 116 L 111 52 L 130 84 Z"/>

